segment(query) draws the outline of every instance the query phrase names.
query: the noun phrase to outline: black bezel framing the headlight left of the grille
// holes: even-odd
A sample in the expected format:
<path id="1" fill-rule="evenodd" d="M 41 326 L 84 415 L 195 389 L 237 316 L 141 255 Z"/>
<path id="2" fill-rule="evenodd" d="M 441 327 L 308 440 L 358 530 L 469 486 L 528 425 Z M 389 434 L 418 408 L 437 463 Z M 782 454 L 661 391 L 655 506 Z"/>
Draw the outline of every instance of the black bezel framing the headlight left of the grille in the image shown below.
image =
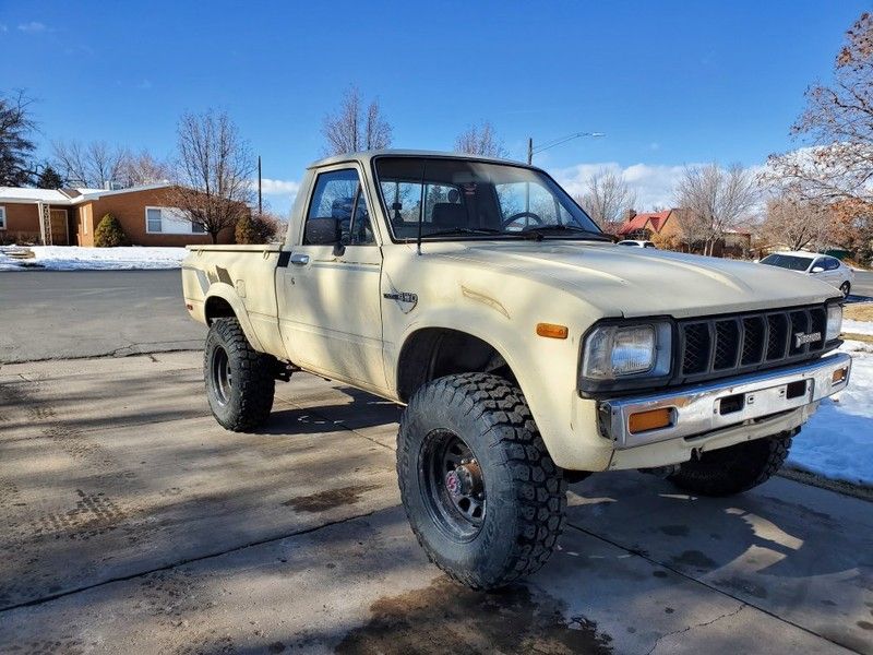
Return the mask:
<path id="1" fill-rule="evenodd" d="M 655 334 L 655 355 L 645 371 L 613 377 L 590 377 L 589 345 L 600 331 L 632 331 L 650 327 Z M 613 332 L 614 334 L 614 332 Z M 613 340 L 614 341 L 614 340 Z M 594 323 L 582 336 L 577 365 L 578 391 L 583 397 L 594 397 L 603 392 L 634 391 L 667 385 L 673 376 L 678 327 L 672 317 L 658 315 L 639 319 L 602 319 Z M 612 350 L 609 350 L 612 353 Z"/>

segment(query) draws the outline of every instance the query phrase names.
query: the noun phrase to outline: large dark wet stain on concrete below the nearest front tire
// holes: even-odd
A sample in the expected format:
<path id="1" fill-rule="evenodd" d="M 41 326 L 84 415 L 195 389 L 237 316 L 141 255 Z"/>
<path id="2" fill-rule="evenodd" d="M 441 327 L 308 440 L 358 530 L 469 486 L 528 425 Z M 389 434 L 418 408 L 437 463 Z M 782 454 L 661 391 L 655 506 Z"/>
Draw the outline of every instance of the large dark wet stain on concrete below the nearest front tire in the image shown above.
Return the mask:
<path id="1" fill-rule="evenodd" d="M 349 632 L 337 653 L 612 652 L 612 638 L 594 621 L 567 621 L 562 603 L 521 585 L 483 593 L 440 577 L 423 590 L 380 598 L 370 610 L 370 621 Z"/>

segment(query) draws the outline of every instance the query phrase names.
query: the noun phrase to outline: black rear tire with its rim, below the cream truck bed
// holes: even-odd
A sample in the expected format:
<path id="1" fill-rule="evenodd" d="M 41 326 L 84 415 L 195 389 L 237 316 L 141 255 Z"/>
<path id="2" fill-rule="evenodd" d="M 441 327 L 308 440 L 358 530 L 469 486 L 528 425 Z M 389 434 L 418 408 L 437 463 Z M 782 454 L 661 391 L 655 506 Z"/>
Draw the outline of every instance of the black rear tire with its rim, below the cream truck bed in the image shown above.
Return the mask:
<path id="1" fill-rule="evenodd" d="M 228 430 L 261 426 L 273 408 L 275 358 L 252 348 L 236 319 L 215 319 L 206 336 L 203 377 L 216 420 Z"/>

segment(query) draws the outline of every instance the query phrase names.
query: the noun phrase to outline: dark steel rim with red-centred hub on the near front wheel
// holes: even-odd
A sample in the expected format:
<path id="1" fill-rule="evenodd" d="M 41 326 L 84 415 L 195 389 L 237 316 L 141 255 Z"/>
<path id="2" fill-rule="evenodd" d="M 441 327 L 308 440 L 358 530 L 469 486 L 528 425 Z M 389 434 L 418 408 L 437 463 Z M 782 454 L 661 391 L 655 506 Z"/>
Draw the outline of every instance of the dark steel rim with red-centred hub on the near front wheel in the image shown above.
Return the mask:
<path id="1" fill-rule="evenodd" d="M 485 478 L 469 445 L 450 430 L 428 434 L 418 466 L 428 511 L 450 538 L 473 539 L 482 527 Z"/>

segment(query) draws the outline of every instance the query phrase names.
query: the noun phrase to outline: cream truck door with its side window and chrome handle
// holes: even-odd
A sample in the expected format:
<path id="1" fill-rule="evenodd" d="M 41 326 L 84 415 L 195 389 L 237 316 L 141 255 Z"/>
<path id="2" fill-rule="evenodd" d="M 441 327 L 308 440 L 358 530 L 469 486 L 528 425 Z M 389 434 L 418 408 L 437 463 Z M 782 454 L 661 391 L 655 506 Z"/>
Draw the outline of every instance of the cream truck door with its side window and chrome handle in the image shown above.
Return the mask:
<path id="1" fill-rule="evenodd" d="M 380 276 L 370 203 L 356 167 L 319 174 L 300 246 L 276 275 L 279 329 L 295 364 L 326 377 L 384 389 Z M 328 218 L 331 221 L 324 221 Z M 310 222 L 333 225 L 340 246 L 310 243 Z M 314 224 L 313 224 L 314 225 Z M 286 255 L 287 257 L 287 255 Z"/>

